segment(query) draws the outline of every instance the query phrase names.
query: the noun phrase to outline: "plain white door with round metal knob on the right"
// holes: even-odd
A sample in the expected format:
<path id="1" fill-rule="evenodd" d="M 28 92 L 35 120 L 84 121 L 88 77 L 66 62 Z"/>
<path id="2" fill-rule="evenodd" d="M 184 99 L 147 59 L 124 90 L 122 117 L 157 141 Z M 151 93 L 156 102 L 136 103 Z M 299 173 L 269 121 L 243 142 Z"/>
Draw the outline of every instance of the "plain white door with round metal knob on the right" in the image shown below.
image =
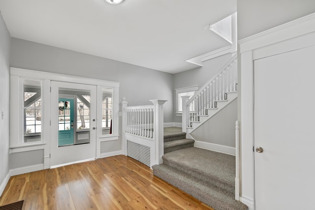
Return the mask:
<path id="1" fill-rule="evenodd" d="M 315 210 L 314 46 L 254 61 L 254 177 L 255 210 Z"/>

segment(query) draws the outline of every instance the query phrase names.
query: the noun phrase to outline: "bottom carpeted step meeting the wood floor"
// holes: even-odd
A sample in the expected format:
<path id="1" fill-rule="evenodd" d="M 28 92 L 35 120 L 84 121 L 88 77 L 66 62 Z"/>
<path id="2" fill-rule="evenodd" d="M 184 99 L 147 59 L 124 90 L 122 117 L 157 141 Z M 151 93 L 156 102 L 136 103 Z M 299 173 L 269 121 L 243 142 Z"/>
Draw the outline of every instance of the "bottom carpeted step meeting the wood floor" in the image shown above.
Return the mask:
<path id="1" fill-rule="evenodd" d="M 234 199 L 234 194 L 206 183 L 168 165 L 152 166 L 154 175 L 190 194 L 215 210 L 247 210 L 247 206 Z"/>

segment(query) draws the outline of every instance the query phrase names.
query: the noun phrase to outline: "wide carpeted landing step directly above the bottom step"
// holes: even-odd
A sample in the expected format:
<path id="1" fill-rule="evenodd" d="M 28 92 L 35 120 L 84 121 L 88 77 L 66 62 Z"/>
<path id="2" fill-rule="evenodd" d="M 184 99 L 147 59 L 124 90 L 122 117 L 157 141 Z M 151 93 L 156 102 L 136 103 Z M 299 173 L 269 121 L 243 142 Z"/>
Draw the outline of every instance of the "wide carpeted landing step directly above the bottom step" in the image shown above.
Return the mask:
<path id="1" fill-rule="evenodd" d="M 235 157 L 189 147 L 163 155 L 163 163 L 222 189 L 235 191 Z"/>

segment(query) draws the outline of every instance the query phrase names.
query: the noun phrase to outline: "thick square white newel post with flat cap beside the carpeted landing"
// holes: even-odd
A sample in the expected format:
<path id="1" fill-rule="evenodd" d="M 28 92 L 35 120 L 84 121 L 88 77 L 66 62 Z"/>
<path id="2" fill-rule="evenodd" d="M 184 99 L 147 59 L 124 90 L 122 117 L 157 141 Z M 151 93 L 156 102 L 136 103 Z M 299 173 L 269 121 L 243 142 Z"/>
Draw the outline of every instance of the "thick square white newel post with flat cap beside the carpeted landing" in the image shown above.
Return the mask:
<path id="1" fill-rule="evenodd" d="M 163 104 L 166 100 L 150 100 L 154 104 L 154 139 L 155 139 L 155 159 L 152 162 L 157 164 L 163 163 L 162 156 L 164 155 L 164 116 Z"/>

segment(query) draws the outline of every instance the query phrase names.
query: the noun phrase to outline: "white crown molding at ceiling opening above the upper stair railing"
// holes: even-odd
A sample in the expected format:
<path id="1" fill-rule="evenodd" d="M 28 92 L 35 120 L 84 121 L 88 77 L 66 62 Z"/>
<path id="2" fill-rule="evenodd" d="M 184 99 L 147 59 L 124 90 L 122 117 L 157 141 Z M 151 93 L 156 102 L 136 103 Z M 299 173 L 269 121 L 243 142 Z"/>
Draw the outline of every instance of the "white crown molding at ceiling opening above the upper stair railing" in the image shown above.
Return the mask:
<path id="1" fill-rule="evenodd" d="M 189 63 L 195 64 L 197 66 L 203 66 L 202 62 L 204 62 L 206 60 L 210 60 L 210 59 L 213 59 L 213 58 L 216 58 L 216 57 L 219 57 L 221 55 L 228 54 L 231 52 L 232 52 L 232 46 L 229 45 L 227 47 L 220 48 L 220 49 L 212 51 L 210 53 L 205 53 L 205 54 L 190 58 L 186 61 Z"/>

